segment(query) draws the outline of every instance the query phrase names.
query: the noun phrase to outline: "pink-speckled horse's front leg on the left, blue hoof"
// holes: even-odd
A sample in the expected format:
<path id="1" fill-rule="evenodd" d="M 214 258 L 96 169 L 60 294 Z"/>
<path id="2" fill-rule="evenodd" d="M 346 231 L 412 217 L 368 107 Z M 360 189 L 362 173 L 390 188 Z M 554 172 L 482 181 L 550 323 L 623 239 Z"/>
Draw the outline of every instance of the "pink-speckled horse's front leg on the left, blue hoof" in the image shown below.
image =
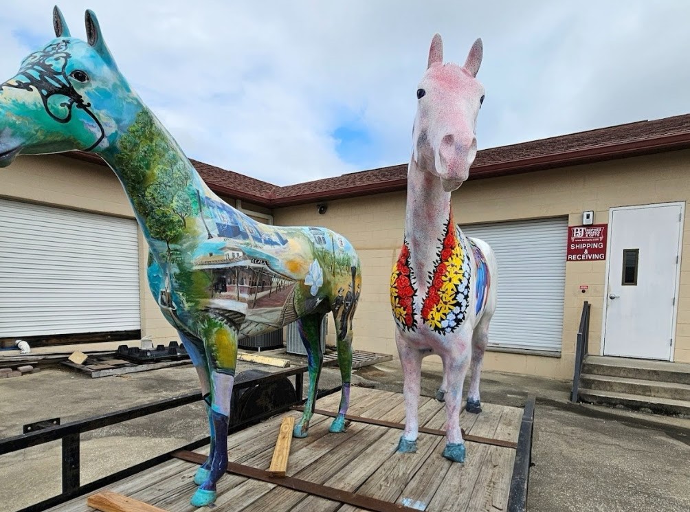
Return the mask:
<path id="1" fill-rule="evenodd" d="M 415 453 L 417 451 L 417 435 L 419 423 L 417 408 L 420 403 L 422 388 L 422 354 L 409 346 L 400 332 L 395 331 L 395 344 L 402 364 L 402 390 L 405 400 L 405 430 L 400 436 L 397 451 Z"/>

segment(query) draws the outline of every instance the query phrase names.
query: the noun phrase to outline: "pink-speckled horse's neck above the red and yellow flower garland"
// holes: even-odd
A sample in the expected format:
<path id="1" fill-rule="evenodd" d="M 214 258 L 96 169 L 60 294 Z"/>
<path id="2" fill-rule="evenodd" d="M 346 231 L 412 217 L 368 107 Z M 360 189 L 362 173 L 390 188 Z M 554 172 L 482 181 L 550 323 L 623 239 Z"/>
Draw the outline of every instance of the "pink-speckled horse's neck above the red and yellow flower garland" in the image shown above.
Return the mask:
<path id="1" fill-rule="evenodd" d="M 407 172 L 405 240 L 421 290 L 426 288 L 423 276 L 433 271 L 439 240 L 444 238 L 451 216 L 451 193 L 412 159 Z"/>

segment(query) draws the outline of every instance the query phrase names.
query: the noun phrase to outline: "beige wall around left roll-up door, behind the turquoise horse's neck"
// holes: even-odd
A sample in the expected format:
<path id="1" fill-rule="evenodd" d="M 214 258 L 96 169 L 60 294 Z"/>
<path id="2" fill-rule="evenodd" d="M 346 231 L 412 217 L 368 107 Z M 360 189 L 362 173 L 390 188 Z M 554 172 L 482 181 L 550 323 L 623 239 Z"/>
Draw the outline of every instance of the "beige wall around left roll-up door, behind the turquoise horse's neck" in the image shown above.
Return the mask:
<path id="1" fill-rule="evenodd" d="M 134 212 L 115 176 L 106 166 L 63 156 L 19 157 L 0 169 L 0 197 L 59 208 L 134 219 Z M 153 299 L 146 279 L 148 246 L 139 230 L 139 297 L 141 336 L 154 342 L 179 339 Z"/>

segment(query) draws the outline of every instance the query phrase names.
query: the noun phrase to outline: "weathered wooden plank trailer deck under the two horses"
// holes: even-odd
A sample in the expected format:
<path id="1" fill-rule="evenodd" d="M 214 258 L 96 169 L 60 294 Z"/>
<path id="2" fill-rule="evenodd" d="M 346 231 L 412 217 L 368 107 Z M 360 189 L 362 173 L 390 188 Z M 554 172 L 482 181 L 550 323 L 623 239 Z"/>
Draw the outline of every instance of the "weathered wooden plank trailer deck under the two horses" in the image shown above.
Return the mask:
<path id="1" fill-rule="evenodd" d="M 337 410 L 340 393 L 317 402 L 317 409 Z M 484 411 L 473 415 L 463 411 L 461 424 L 467 434 L 517 443 L 523 409 L 482 404 Z M 266 470 L 273 456 L 280 423 L 290 411 L 261 424 L 239 431 L 228 438 L 230 462 Z M 400 393 L 353 388 L 348 414 L 384 422 L 403 422 L 404 403 Z M 443 429 L 446 420 L 443 404 L 420 397 L 420 425 Z M 201 419 L 199 420 L 201 421 Z M 397 510 L 426 511 L 506 511 L 515 447 L 467 441 L 464 464 L 451 464 L 441 456 L 445 438 L 420 433 L 417 453 L 397 453 L 402 431 L 353 421 L 346 433 L 328 433 L 331 417 L 315 414 L 306 439 L 293 439 L 287 479 L 276 483 L 226 473 L 218 482 L 217 511 L 355 511 L 365 510 L 343 502 L 326 500 L 279 485 L 283 480 L 299 479 L 398 504 Z M 531 435 L 531 431 L 529 433 Z M 199 453 L 208 453 L 208 446 Z M 197 464 L 170 460 L 108 486 L 120 493 L 170 512 L 195 511 L 189 500 L 196 486 L 193 476 Z M 292 478 L 289 478 L 292 477 Z M 523 478 L 526 475 L 522 476 Z M 319 488 L 319 486 L 315 486 Z M 316 493 L 318 494 L 318 493 Z M 88 496 L 50 509 L 53 512 L 91 512 Z"/>

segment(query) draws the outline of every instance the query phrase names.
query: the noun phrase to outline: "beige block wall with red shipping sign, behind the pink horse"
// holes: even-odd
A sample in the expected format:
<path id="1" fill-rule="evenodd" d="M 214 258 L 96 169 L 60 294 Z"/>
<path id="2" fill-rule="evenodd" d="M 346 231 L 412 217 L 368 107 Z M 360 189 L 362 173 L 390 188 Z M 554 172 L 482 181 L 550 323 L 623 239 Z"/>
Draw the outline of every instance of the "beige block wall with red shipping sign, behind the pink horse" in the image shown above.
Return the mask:
<path id="1" fill-rule="evenodd" d="M 577 226 L 582 222 L 582 212 L 593 210 L 595 224 L 607 224 L 609 208 L 615 206 L 687 201 L 689 171 L 690 151 L 684 150 L 468 181 L 453 193 L 455 220 L 460 224 L 474 224 L 568 216 L 569 224 Z M 324 226 L 350 239 L 362 258 L 364 279 L 355 315 L 355 347 L 383 351 L 396 357 L 388 286 L 391 268 L 402 244 L 404 201 L 405 193 L 398 192 L 328 201 L 324 215 L 317 213 L 316 203 L 274 211 L 276 224 Z M 673 353 L 676 362 L 690 362 L 690 221 L 687 216 L 684 222 L 678 326 Z M 485 368 L 572 378 L 575 338 L 584 300 L 592 304 L 590 353 L 601 351 L 605 268 L 606 262 L 566 263 L 560 357 L 490 351 L 486 353 Z M 589 286 L 586 293 L 580 291 L 580 285 Z M 329 342 L 334 342 L 332 335 Z"/>

